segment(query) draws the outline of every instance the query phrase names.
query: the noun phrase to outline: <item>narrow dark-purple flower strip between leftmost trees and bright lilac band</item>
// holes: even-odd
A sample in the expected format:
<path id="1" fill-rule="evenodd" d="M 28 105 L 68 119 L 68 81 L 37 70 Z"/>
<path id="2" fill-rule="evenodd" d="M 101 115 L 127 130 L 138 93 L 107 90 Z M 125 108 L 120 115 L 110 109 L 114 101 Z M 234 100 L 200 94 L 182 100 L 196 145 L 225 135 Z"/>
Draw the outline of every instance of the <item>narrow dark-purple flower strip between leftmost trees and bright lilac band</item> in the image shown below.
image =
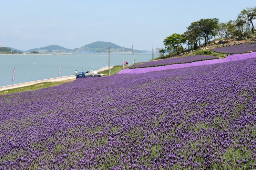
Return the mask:
<path id="1" fill-rule="evenodd" d="M 130 69 L 133 68 L 145 68 L 145 67 L 158 67 L 158 66 L 166 66 L 172 64 L 182 64 L 182 63 L 192 63 L 196 61 L 203 61 L 203 60 L 211 60 L 211 59 L 218 59 L 216 56 L 205 56 L 205 55 L 196 55 L 196 56 L 187 56 L 187 57 L 178 57 L 178 58 L 168 58 L 163 60 L 157 61 L 149 61 L 145 63 L 139 63 L 130 66 Z"/>

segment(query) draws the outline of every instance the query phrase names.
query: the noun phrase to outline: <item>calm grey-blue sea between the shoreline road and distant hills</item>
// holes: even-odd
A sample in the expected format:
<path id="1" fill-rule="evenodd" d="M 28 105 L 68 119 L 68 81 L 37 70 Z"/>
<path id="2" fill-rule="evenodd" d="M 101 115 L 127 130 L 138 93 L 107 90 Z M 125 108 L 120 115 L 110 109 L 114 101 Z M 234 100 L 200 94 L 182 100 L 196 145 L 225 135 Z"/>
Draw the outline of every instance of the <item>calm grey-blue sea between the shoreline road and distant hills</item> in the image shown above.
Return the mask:
<path id="1" fill-rule="evenodd" d="M 154 53 L 154 58 L 158 57 Z M 135 62 L 147 62 L 152 53 L 135 53 Z M 124 61 L 133 64 L 132 53 L 124 53 Z M 110 53 L 110 65 L 122 65 L 123 53 Z M 61 70 L 59 74 L 59 66 Z M 70 55 L 0 55 L 0 87 L 23 82 L 70 76 L 86 70 L 109 66 L 109 53 Z M 16 68 L 14 81 L 13 69 Z"/>

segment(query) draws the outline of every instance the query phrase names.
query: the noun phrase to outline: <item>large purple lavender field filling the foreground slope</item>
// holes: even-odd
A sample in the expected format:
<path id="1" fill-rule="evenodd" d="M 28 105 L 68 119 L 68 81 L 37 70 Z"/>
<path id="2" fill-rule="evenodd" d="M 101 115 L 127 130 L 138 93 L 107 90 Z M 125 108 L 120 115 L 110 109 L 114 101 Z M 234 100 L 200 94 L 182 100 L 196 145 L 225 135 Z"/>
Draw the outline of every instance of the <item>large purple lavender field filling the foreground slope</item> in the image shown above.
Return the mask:
<path id="1" fill-rule="evenodd" d="M 0 170 L 256 169 L 256 58 L 0 96 Z"/>

